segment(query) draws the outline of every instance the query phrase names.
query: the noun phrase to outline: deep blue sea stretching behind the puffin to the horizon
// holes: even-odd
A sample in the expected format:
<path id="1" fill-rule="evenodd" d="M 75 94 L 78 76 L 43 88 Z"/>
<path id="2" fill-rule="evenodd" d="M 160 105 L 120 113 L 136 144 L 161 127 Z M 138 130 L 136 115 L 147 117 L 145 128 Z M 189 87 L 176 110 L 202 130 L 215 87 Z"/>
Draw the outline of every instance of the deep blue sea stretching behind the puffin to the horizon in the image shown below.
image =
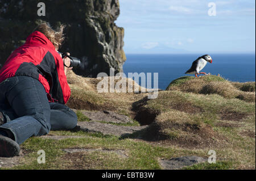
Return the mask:
<path id="1" fill-rule="evenodd" d="M 202 54 L 126 54 L 127 60 L 123 64 L 123 73 L 126 77 L 128 73 L 145 73 L 146 75 L 151 73 L 152 88 L 154 73 L 158 73 L 158 88 L 165 90 L 176 78 L 195 76 L 184 73 L 200 56 Z M 255 82 L 255 54 L 210 54 L 210 56 L 213 60 L 212 64 L 207 63 L 201 71 L 213 75 L 220 74 L 229 81 Z M 137 83 L 141 85 L 141 79 Z"/>

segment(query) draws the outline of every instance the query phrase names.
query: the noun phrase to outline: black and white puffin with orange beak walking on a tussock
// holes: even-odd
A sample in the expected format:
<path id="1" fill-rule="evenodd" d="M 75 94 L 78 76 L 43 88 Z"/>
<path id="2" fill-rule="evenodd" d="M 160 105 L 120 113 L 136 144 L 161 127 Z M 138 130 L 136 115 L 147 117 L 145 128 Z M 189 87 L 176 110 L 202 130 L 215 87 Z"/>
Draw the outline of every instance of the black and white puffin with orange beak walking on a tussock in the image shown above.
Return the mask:
<path id="1" fill-rule="evenodd" d="M 205 65 L 207 65 L 207 62 L 212 64 L 212 57 L 210 57 L 209 54 L 198 57 L 195 61 L 193 61 L 191 68 L 186 71 L 185 74 L 195 74 L 196 77 L 199 74 L 206 75 L 207 73 L 200 71 L 205 67 Z"/>

